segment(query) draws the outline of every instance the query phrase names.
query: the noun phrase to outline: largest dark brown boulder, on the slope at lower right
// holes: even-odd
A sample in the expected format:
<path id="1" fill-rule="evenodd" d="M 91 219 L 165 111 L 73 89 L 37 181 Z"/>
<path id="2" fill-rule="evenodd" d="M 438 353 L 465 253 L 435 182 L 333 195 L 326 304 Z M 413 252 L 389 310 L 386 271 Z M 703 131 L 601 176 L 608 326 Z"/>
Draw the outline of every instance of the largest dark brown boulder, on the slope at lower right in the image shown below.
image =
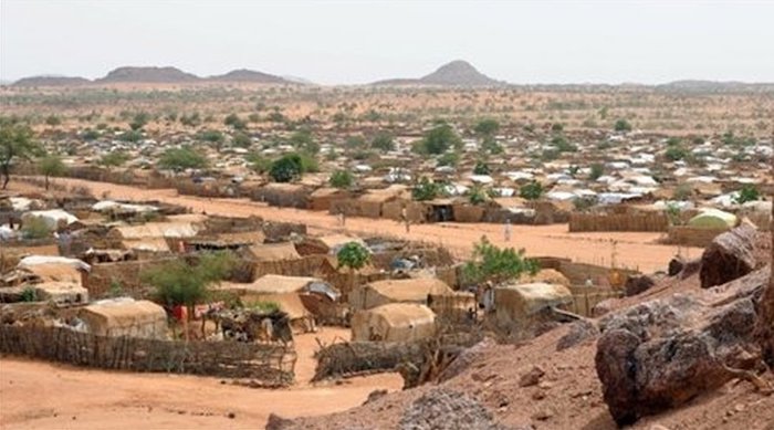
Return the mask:
<path id="1" fill-rule="evenodd" d="M 754 366 L 755 302 L 768 275 L 766 268 L 707 294 L 676 294 L 603 318 L 596 369 L 616 422 L 681 405 L 732 379 L 728 368 Z"/>

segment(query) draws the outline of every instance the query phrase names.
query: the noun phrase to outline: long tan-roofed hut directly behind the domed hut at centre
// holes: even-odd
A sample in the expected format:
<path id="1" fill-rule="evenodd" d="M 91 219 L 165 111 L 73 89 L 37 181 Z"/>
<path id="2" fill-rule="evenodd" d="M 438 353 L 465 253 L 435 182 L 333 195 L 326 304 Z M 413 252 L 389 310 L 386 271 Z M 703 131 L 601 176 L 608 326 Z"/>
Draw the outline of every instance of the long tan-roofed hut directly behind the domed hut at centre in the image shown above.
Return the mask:
<path id="1" fill-rule="evenodd" d="M 443 281 L 435 277 L 376 281 L 355 289 L 349 294 L 353 310 L 370 310 L 388 303 L 427 304 L 430 294 L 452 294 Z"/>

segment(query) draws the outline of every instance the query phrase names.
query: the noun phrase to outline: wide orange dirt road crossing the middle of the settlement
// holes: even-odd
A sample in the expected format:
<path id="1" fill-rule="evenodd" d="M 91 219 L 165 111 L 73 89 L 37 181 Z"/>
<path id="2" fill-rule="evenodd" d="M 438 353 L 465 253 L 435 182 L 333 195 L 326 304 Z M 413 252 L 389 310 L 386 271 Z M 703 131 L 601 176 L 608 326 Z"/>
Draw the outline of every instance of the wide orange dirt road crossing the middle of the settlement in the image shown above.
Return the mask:
<path id="1" fill-rule="evenodd" d="M 178 196 L 175 190 L 146 190 L 138 187 L 118 186 L 77 179 L 56 179 L 67 187 L 82 186 L 96 197 L 126 200 L 164 200 L 181 204 L 194 211 L 211 214 L 248 217 L 251 214 L 272 221 L 301 222 L 313 233 L 346 231 L 355 234 L 381 234 L 410 240 L 427 241 L 447 247 L 454 255 L 470 254 L 473 243 L 487 235 L 494 243 L 524 248 L 533 256 L 562 256 L 582 263 L 609 265 L 614 259 L 619 266 L 638 269 L 644 272 L 663 270 L 677 253 L 673 245 L 655 243 L 660 233 L 568 233 L 567 224 L 513 226 L 512 241 L 503 241 L 502 226 L 491 223 L 441 223 L 412 226 L 409 233 L 405 227 L 390 220 L 349 218 L 341 228 L 337 218 L 325 212 L 289 208 L 273 208 L 266 204 L 241 199 L 206 199 L 192 196 Z M 28 185 L 11 182 L 29 189 Z M 17 188 L 19 189 L 19 188 Z M 616 242 L 614 247 L 613 242 Z M 701 249 L 683 248 L 683 255 L 698 256 Z M 614 255 L 615 254 L 615 255 Z"/>

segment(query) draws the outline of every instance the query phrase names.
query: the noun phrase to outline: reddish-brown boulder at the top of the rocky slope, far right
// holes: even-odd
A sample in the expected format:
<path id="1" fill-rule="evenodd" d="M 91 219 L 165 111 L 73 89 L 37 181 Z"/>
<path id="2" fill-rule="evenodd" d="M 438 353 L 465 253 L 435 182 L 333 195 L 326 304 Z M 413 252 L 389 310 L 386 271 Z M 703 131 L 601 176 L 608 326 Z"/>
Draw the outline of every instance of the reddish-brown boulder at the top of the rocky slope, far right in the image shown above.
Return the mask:
<path id="1" fill-rule="evenodd" d="M 701 255 L 701 287 L 721 285 L 752 272 L 756 233 L 754 228 L 741 226 L 718 235 Z"/>

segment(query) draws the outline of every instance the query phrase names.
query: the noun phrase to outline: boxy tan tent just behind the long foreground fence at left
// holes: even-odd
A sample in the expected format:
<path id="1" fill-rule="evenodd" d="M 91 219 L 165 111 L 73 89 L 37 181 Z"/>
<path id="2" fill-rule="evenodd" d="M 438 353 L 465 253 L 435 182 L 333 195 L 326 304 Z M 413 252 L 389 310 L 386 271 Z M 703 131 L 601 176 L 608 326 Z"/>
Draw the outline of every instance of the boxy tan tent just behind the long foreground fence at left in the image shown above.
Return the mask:
<path id="1" fill-rule="evenodd" d="M 167 338 L 167 313 L 149 301 L 128 297 L 95 302 L 79 313 L 88 332 L 109 337 Z"/>

